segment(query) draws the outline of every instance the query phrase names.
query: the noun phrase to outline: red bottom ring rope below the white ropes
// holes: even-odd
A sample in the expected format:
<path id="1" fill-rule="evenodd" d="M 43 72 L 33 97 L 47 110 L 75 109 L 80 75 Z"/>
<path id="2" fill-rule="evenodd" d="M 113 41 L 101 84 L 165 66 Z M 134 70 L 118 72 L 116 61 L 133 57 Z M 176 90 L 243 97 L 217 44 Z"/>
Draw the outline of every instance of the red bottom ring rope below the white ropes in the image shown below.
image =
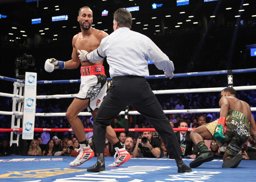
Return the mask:
<path id="1" fill-rule="evenodd" d="M 195 128 L 173 128 L 174 131 L 192 131 Z M 21 132 L 23 129 L 22 128 L 11 128 L 11 129 L 0 129 L 0 132 Z M 92 132 L 91 129 L 84 129 L 85 132 Z M 125 131 L 124 128 L 114 128 L 113 129 L 115 132 L 123 132 Z M 35 132 L 65 132 L 65 131 L 73 131 L 70 128 L 34 128 Z M 156 131 L 154 128 L 129 128 L 129 131 L 131 132 L 142 132 L 142 131 Z"/>

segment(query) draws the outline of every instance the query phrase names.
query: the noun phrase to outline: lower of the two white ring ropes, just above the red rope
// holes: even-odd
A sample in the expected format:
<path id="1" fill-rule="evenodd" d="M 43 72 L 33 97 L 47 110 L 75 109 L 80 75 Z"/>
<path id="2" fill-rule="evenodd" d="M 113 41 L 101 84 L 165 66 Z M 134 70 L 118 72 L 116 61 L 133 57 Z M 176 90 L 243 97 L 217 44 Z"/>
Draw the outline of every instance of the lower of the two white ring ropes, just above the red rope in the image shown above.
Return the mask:
<path id="1" fill-rule="evenodd" d="M 251 107 L 251 111 L 256 111 L 256 107 Z M 180 110 L 164 110 L 165 114 L 179 114 L 179 113 L 218 113 L 220 112 L 220 108 L 217 109 L 180 109 Z M 22 112 L 6 112 L 6 111 L 0 111 L 0 114 L 5 115 L 17 115 L 22 116 Z M 119 113 L 120 115 L 124 115 L 124 111 Z M 128 114 L 131 115 L 137 115 L 140 114 L 138 111 L 129 111 Z M 65 116 L 66 113 L 36 113 L 36 116 Z M 91 116 L 91 113 L 89 112 L 80 112 L 78 114 L 79 116 Z"/>

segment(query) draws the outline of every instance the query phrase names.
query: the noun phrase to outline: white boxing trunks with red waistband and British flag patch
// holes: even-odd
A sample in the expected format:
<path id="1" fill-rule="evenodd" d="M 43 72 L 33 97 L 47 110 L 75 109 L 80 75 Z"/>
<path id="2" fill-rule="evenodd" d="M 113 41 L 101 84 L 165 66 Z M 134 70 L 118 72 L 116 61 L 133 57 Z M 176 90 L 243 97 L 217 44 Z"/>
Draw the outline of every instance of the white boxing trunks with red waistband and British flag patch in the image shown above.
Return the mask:
<path id="1" fill-rule="evenodd" d="M 80 91 L 76 95 L 77 99 L 89 99 L 89 112 L 99 108 L 103 97 L 107 92 L 107 76 L 102 65 L 82 66 L 81 67 Z"/>

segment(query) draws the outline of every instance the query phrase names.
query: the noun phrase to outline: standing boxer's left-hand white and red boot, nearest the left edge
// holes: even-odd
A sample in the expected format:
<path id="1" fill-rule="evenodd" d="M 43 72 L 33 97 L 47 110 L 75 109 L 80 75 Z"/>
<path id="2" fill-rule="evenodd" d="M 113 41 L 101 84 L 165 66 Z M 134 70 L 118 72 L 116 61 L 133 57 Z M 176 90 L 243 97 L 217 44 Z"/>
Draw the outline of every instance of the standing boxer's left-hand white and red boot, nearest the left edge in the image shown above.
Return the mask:
<path id="1" fill-rule="evenodd" d="M 69 166 L 75 167 L 80 166 L 87 160 L 90 160 L 94 157 L 94 151 L 90 148 L 90 146 L 86 147 L 86 144 L 80 144 L 80 148 L 77 150 L 79 152 L 79 155 L 76 157 L 75 160 L 73 160 L 71 163 L 69 163 Z"/>

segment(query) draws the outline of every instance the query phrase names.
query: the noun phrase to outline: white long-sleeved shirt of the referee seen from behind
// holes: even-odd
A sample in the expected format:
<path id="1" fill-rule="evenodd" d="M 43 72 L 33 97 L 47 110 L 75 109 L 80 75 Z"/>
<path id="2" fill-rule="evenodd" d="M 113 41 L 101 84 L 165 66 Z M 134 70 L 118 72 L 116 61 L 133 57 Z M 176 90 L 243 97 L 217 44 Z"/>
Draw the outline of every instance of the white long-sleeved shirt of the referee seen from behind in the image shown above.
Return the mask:
<path id="1" fill-rule="evenodd" d="M 95 63 L 107 57 L 110 77 L 137 75 L 149 76 L 148 58 L 167 75 L 174 72 L 174 64 L 147 36 L 127 27 L 116 29 L 101 40 L 100 46 L 87 55 Z"/>

